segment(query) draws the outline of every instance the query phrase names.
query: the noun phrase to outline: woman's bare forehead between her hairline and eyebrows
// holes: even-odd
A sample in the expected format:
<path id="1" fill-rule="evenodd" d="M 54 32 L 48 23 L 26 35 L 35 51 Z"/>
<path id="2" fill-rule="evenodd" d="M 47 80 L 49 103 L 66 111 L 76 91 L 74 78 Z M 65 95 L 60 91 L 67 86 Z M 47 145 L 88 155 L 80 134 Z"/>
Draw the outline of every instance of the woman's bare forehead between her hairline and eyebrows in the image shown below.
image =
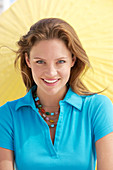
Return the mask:
<path id="1" fill-rule="evenodd" d="M 36 55 L 70 55 L 71 52 L 60 39 L 42 40 L 37 42 L 30 51 L 30 56 Z"/>

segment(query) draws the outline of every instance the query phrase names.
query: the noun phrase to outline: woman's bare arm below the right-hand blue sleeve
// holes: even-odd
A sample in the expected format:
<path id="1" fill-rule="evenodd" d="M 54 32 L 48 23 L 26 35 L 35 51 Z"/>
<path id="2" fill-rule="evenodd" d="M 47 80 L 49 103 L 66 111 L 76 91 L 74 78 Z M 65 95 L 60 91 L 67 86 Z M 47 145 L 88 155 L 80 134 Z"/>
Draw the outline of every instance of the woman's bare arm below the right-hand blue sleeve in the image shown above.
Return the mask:
<path id="1" fill-rule="evenodd" d="M 113 170 L 113 132 L 96 142 L 97 170 Z"/>

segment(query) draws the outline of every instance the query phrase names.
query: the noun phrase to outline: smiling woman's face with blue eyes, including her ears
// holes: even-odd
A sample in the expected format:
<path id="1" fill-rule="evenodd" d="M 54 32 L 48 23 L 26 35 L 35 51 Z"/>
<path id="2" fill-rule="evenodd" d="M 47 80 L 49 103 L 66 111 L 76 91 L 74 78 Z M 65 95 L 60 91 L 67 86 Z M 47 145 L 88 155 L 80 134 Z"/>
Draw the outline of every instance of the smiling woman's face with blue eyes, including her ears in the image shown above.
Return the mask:
<path id="1" fill-rule="evenodd" d="M 70 70 L 75 63 L 72 54 L 62 40 L 42 40 L 26 54 L 26 63 L 41 94 L 55 95 L 66 89 Z"/>

